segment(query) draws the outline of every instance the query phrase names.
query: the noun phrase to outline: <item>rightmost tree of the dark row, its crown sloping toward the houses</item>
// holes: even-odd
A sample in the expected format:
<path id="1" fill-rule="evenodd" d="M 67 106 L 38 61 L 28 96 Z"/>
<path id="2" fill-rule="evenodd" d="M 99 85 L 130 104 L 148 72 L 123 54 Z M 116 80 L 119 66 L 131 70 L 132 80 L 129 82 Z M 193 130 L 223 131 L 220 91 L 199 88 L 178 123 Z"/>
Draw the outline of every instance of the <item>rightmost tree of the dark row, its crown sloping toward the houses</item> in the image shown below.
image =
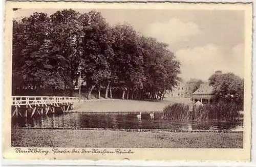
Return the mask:
<path id="1" fill-rule="evenodd" d="M 171 90 L 180 79 L 180 62 L 167 49 L 167 44 L 158 42 L 154 38 L 142 37 L 145 92 L 147 98 L 163 96 L 165 90 Z"/>

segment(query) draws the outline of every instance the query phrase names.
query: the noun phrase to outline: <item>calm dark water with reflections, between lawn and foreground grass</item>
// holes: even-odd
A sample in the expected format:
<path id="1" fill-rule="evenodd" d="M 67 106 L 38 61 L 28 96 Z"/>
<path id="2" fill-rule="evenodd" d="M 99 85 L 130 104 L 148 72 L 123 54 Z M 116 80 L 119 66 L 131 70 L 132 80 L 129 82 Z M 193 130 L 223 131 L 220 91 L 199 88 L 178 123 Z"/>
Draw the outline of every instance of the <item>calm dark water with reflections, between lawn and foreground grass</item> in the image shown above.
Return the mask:
<path id="1" fill-rule="evenodd" d="M 13 118 L 13 127 L 79 127 L 79 128 L 143 128 L 143 129 L 234 129 L 242 122 L 172 122 L 164 120 L 162 113 L 155 113 L 154 119 L 149 114 L 86 114 L 68 113 L 63 115 L 44 116 L 39 118 Z"/>

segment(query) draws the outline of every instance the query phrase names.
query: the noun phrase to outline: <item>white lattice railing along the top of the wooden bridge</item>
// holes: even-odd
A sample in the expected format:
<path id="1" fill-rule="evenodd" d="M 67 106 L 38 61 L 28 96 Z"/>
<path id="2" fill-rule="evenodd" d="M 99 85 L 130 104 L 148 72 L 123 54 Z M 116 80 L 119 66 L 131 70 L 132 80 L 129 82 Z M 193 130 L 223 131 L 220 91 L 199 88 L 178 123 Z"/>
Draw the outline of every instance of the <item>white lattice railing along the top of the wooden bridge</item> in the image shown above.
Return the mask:
<path id="1" fill-rule="evenodd" d="M 12 96 L 12 105 L 53 105 L 74 103 L 79 101 L 79 97 L 65 97 L 65 96 Z"/>

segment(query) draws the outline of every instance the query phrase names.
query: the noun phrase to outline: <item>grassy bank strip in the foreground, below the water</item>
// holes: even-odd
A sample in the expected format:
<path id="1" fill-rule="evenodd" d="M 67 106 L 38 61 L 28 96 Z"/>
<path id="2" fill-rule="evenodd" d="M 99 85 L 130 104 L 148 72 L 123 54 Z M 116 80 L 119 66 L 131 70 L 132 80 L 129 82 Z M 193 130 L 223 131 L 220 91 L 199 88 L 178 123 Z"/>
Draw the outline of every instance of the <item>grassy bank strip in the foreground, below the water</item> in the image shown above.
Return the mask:
<path id="1" fill-rule="evenodd" d="M 242 148 L 243 133 L 12 129 L 16 147 Z"/>

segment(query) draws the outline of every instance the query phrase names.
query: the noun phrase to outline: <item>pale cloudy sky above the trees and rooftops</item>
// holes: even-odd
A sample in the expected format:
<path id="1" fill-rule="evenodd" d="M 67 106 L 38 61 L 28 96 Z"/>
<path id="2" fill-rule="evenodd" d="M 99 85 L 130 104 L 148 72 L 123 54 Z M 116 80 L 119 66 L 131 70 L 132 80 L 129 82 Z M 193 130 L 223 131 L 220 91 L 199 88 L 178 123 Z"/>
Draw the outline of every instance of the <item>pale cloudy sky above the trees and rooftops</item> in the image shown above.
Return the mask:
<path id="1" fill-rule="evenodd" d="M 61 9 L 60 9 L 61 10 Z M 77 9 L 76 9 L 77 10 Z M 128 23 L 167 43 L 181 62 L 184 80 L 207 80 L 217 70 L 244 75 L 244 12 L 239 10 L 95 9 L 110 24 Z M 19 9 L 14 18 L 57 9 Z M 77 10 L 81 13 L 89 12 Z"/>

